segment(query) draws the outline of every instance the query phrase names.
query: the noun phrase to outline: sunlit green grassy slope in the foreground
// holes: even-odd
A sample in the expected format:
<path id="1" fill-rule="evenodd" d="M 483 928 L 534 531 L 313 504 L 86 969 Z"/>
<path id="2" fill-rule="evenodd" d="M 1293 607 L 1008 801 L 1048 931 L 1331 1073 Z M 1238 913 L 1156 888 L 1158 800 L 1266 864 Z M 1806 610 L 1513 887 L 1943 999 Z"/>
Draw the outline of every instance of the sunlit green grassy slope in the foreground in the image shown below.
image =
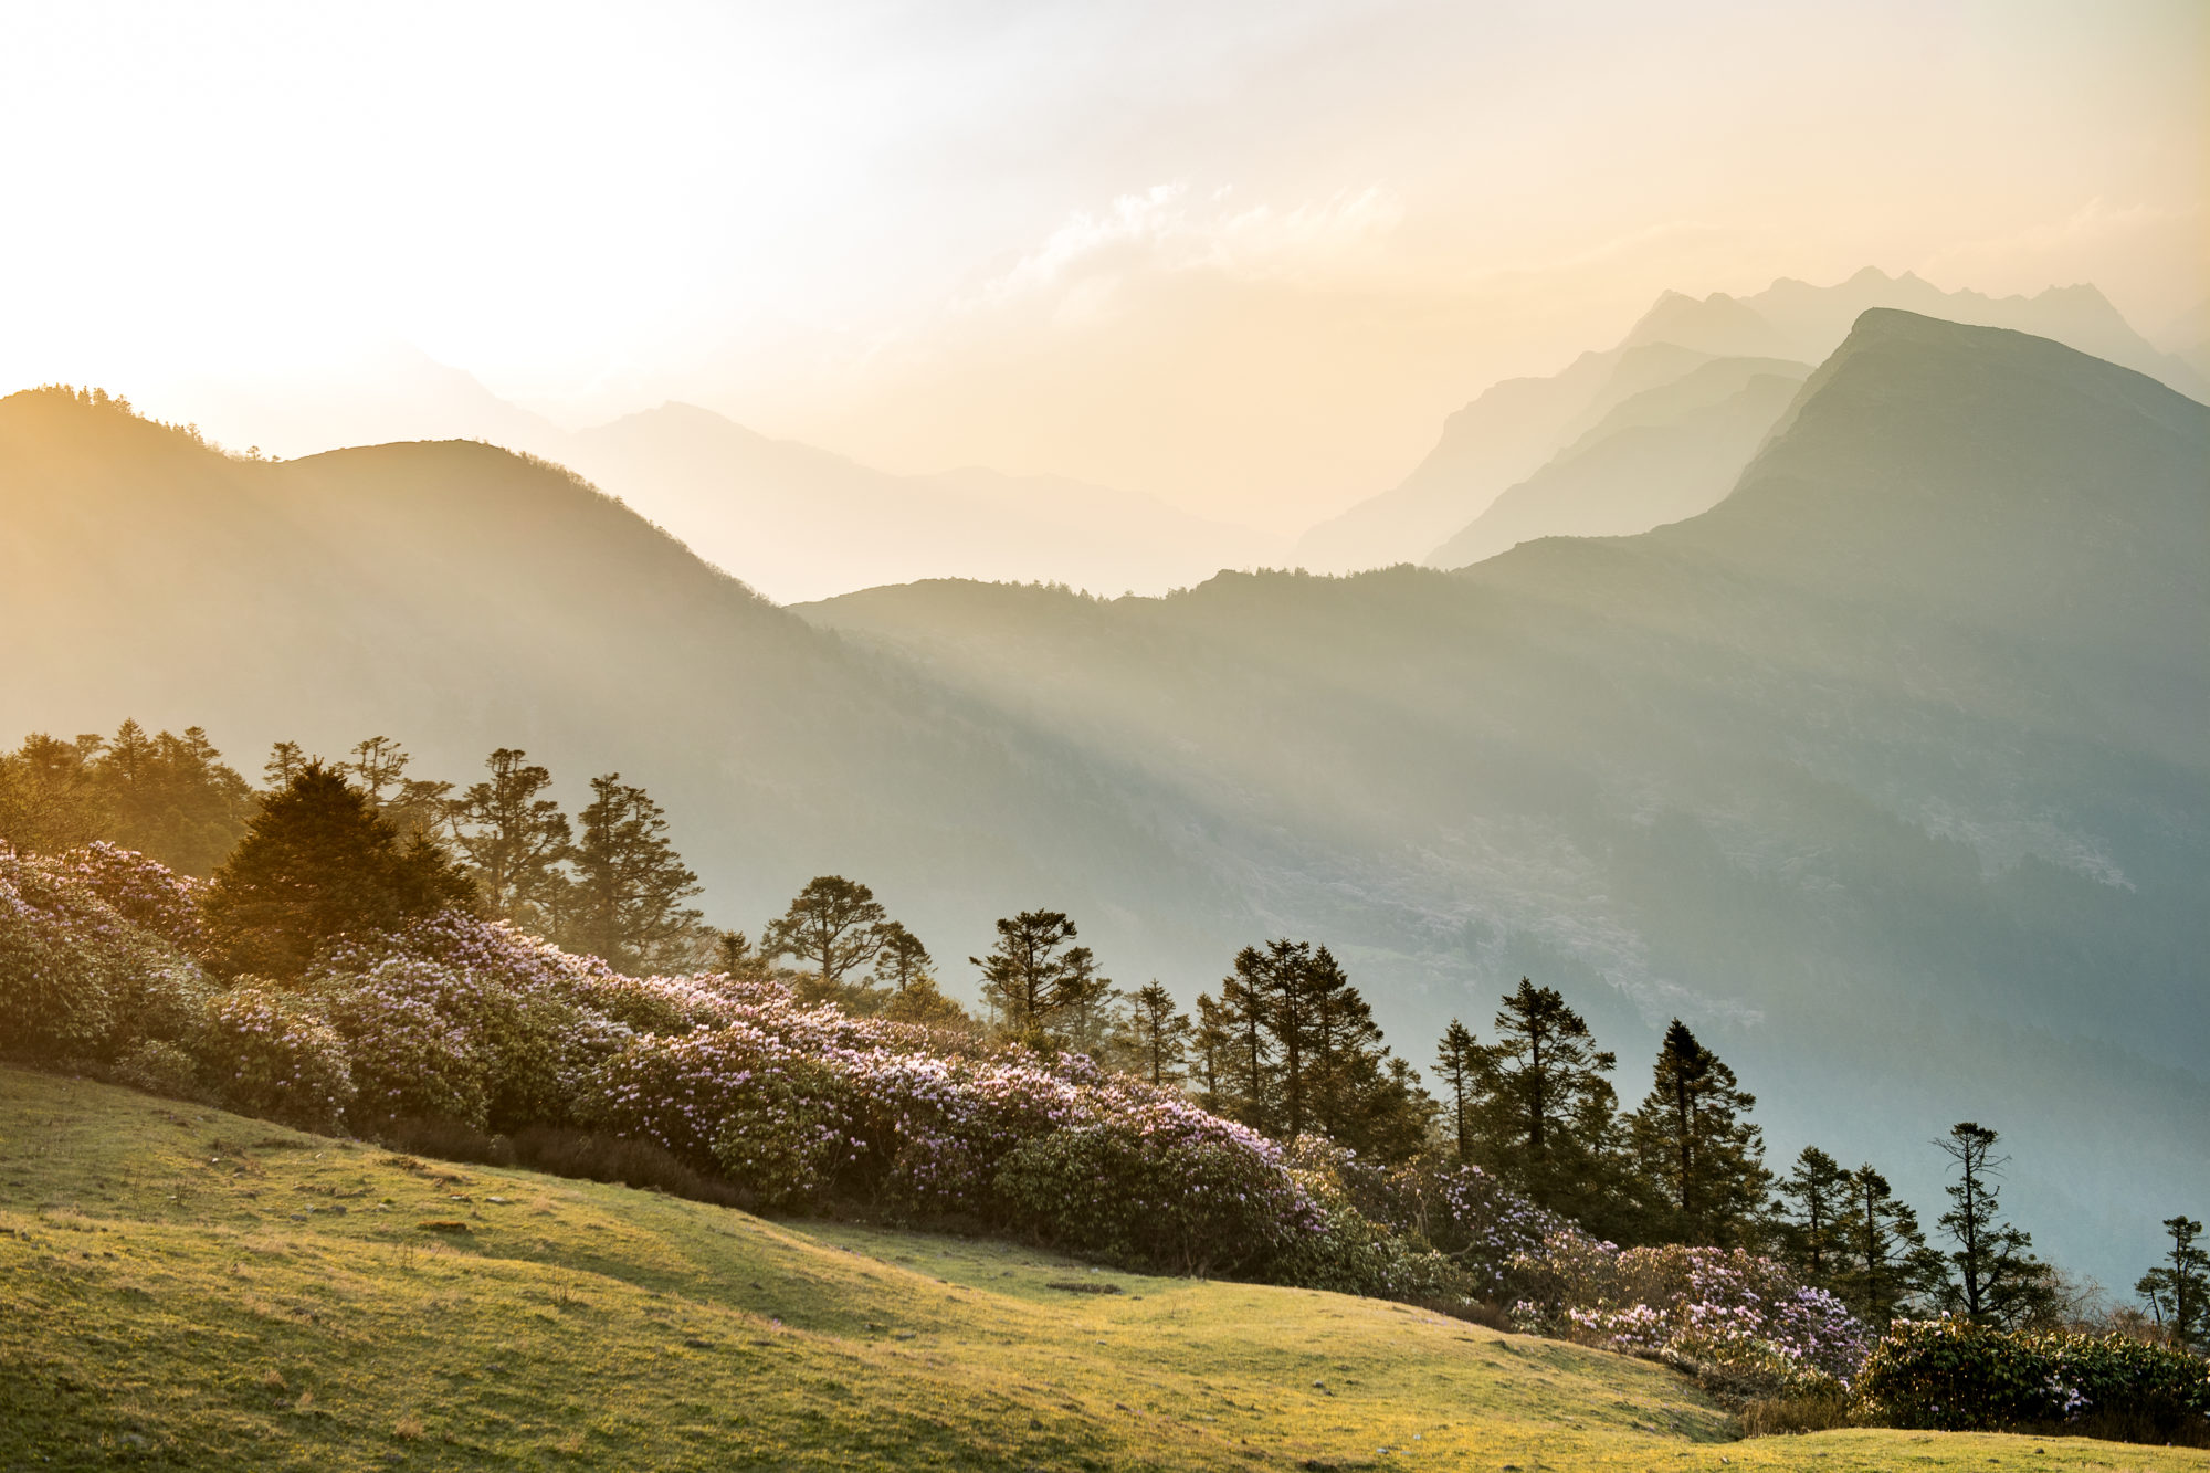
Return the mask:
<path id="1" fill-rule="evenodd" d="M 411 1163 L 0 1068 L 0 1469 L 117 1464 L 1841 1473 L 2210 1455 L 1735 1442 L 1664 1369 L 1403 1305 Z"/>

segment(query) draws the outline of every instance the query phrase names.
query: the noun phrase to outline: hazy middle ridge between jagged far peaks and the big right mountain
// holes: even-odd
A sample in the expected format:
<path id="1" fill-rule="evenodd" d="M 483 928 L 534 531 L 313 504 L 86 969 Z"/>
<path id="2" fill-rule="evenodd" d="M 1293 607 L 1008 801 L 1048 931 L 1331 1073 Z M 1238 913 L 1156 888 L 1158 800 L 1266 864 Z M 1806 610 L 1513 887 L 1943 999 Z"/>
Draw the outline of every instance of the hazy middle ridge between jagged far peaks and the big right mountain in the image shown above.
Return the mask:
<path id="1" fill-rule="evenodd" d="M 1708 511 L 1810 369 L 1713 358 L 1607 414 L 1423 562 L 1461 568 L 1534 537 L 1613 537 Z"/>

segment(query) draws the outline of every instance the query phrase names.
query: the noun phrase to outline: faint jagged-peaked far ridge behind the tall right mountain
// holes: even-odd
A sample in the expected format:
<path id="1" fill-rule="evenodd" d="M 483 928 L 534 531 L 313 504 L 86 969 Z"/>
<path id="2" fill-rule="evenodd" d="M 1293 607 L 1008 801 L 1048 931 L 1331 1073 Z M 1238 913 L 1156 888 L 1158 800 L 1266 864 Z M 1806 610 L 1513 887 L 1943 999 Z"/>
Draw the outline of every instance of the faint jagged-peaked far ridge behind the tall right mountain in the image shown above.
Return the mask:
<path id="1" fill-rule="evenodd" d="M 1669 376 L 1677 378 L 1724 356 L 1817 363 L 1834 352 L 1859 314 L 1874 307 L 2031 332 L 2150 374 L 2181 394 L 2206 394 L 2186 361 L 2150 347 L 2091 285 L 2051 288 L 2038 296 L 1982 296 L 1943 292 L 1909 272 L 1887 276 L 1865 268 L 1830 288 L 1783 279 L 1746 299 L 1666 292 L 1618 347 L 1582 354 L 1551 378 L 1498 383 L 1450 416 L 1443 438 L 1412 476 L 1313 526 L 1297 540 L 1295 560 L 1315 573 L 1355 573 L 1428 557 L 1507 487 L 1567 449 L 1602 418 L 1609 403 L 1662 383 L 1653 369 L 1671 365 Z M 1629 380 L 1613 383 L 1604 403 L 1600 391 L 1620 372 Z M 1640 383 L 1633 383 L 1635 374 Z"/>

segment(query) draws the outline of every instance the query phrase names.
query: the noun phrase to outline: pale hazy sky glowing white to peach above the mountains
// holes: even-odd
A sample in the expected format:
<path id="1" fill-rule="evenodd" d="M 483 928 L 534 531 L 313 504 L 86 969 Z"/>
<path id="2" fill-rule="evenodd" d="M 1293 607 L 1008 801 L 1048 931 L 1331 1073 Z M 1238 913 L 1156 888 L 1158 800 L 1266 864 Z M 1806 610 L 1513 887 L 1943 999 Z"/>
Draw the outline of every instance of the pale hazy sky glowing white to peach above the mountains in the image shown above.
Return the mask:
<path id="1" fill-rule="evenodd" d="M 2157 336 L 2206 77 L 2199 0 L 0 0 L 0 387 L 398 341 L 1291 529 L 1662 288 L 2095 281 Z"/>

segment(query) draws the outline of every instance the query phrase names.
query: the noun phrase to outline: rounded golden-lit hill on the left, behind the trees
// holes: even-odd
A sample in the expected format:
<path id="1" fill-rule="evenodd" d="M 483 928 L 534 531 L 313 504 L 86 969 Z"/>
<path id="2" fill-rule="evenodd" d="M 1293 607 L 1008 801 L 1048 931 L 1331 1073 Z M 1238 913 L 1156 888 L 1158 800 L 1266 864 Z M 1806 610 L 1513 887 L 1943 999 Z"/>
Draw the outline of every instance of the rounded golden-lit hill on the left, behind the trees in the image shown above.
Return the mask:
<path id="1" fill-rule="evenodd" d="M 939 942 L 1074 896 L 1160 936 L 1233 905 L 1160 852 L 1176 818 L 1140 785 L 484 445 L 241 462 L 66 394 L 0 400 L 0 628 L 9 741 L 203 723 L 252 772 L 274 739 L 336 756 L 382 732 L 460 781 L 519 745 L 570 798 L 619 770 L 723 924 L 756 931 L 824 871 Z"/>

